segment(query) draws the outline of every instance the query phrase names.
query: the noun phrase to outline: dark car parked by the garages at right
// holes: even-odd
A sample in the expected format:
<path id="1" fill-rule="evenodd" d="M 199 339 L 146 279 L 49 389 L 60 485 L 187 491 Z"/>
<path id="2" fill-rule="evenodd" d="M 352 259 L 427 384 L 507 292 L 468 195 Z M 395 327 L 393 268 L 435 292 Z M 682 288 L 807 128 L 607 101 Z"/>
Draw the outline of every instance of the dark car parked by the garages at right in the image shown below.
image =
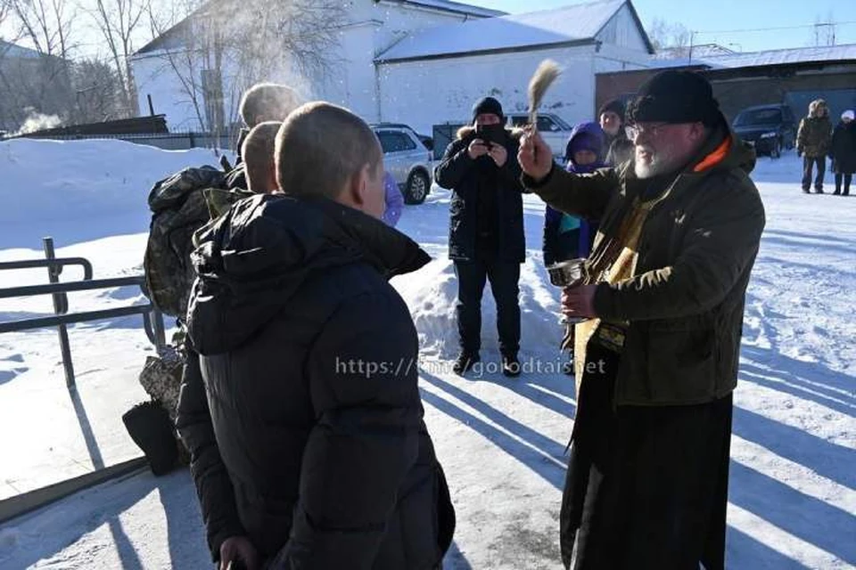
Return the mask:
<path id="1" fill-rule="evenodd" d="M 733 126 L 735 133 L 752 144 L 759 155 L 768 154 L 778 159 L 782 149 L 794 148 L 796 122 L 787 105 L 749 107 L 740 111 Z"/>

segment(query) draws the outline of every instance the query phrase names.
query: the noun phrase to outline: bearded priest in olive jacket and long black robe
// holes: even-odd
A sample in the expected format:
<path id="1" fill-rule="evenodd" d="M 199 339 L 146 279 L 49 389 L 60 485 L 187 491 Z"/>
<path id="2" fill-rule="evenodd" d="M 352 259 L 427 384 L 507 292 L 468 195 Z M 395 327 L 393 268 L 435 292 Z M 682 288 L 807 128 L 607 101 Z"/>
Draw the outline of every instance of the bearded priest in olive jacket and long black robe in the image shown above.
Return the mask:
<path id="1" fill-rule="evenodd" d="M 732 391 L 764 227 L 751 149 L 704 77 L 664 71 L 630 103 L 635 157 L 572 175 L 523 137 L 526 185 L 601 219 L 577 325 L 578 408 L 560 515 L 574 570 L 725 565 Z"/>

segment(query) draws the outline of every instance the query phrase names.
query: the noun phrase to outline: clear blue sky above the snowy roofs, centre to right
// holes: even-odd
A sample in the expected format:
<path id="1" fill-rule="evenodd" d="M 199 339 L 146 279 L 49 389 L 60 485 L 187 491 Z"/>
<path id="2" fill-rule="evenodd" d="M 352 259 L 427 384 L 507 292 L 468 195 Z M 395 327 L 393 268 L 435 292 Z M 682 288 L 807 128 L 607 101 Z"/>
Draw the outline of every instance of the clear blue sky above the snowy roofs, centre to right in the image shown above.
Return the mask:
<path id="1" fill-rule="evenodd" d="M 520 13 L 590 0 L 461 1 Z M 683 24 L 697 32 L 696 44 L 716 43 L 744 52 L 804 47 L 814 45 L 814 24 L 830 19 L 840 22 L 835 27 L 836 44 L 856 44 L 856 0 L 634 0 L 633 5 L 644 25 L 654 18 Z M 722 33 L 758 28 L 786 29 Z"/>

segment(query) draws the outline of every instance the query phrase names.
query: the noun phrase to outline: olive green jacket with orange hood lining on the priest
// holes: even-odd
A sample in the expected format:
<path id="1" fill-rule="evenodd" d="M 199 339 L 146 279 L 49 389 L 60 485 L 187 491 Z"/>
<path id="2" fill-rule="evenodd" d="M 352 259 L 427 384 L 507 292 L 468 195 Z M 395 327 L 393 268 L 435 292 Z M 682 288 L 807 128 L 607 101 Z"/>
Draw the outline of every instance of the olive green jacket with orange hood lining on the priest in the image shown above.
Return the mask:
<path id="1" fill-rule="evenodd" d="M 615 379 L 618 405 L 705 403 L 737 385 L 746 286 L 765 218 L 748 176 L 754 153 L 726 129 L 723 119 L 647 215 L 634 276 L 597 285 L 597 316 L 630 323 Z M 632 161 L 590 175 L 554 166 L 539 183 L 525 175 L 523 183 L 553 208 L 601 220 L 596 250 L 647 184 Z"/>

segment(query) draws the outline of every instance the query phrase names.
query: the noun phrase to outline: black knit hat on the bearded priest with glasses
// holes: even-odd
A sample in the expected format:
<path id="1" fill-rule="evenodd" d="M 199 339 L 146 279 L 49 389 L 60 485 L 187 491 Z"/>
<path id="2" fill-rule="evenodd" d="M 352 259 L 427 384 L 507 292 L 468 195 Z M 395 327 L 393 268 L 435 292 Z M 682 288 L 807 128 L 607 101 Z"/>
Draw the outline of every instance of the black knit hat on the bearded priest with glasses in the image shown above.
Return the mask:
<path id="1" fill-rule="evenodd" d="M 720 104 L 711 84 L 692 71 L 662 71 L 648 79 L 627 109 L 629 123 L 695 123 L 713 126 Z"/>

